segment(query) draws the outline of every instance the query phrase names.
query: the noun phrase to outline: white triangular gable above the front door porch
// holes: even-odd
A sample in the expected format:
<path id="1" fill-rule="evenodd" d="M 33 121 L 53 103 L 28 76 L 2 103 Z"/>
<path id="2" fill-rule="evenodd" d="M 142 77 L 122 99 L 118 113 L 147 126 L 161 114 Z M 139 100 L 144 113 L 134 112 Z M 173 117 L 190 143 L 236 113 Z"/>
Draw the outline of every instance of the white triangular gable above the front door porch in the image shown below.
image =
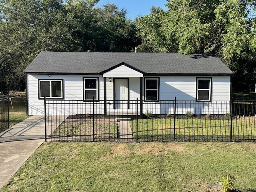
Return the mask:
<path id="1" fill-rule="evenodd" d="M 104 73 L 103 77 L 143 77 L 143 74 L 125 65 L 121 65 Z"/>

